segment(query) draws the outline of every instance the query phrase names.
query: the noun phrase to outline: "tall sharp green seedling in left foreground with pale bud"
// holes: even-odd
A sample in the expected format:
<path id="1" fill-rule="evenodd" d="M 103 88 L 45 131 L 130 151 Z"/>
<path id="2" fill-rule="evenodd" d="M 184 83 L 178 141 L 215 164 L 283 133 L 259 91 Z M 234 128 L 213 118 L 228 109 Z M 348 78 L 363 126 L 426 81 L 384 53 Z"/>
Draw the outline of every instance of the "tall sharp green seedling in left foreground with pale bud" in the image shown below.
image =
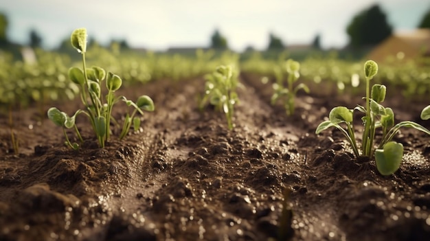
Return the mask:
<path id="1" fill-rule="evenodd" d="M 73 149 L 78 149 L 79 144 L 69 141 L 65 128 L 73 128 L 76 131 L 80 141 L 82 142 L 82 137 L 80 136 L 79 130 L 76 127 L 75 119 L 80 113 L 87 115 L 93 127 L 95 136 L 98 139 L 99 146 L 104 148 L 104 144 L 109 140 L 111 135 L 111 122 L 117 123 L 112 117 L 113 106 L 120 100 L 124 101 L 126 105 L 132 106 L 135 110 L 131 115 L 126 113 L 124 119 L 124 124 L 122 127 L 122 132 L 120 139 L 123 139 L 128 130 L 131 128 L 133 123 L 134 128 L 139 128 L 140 119 L 135 117 L 135 114 L 139 112 L 143 115 L 143 111 L 154 111 L 154 102 L 148 95 L 142 95 L 137 99 L 137 102 L 127 100 L 124 96 L 115 96 L 115 91 L 120 89 L 122 85 L 122 80 L 120 76 L 114 73 L 104 71 L 100 67 L 87 68 L 85 65 L 85 52 L 87 51 L 87 30 L 84 28 L 77 29 L 71 34 L 71 45 L 82 54 L 82 69 L 78 67 L 72 67 L 69 69 L 70 80 L 78 84 L 80 89 L 80 100 L 85 106 L 84 110 L 78 110 L 76 113 L 69 117 L 66 113 L 59 111 L 57 108 L 49 108 L 48 117 L 57 126 L 63 127 L 63 131 L 66 137 L 66 144 Z M 107 95 L 102 96 L 102 82 L 105 81 Z"/>

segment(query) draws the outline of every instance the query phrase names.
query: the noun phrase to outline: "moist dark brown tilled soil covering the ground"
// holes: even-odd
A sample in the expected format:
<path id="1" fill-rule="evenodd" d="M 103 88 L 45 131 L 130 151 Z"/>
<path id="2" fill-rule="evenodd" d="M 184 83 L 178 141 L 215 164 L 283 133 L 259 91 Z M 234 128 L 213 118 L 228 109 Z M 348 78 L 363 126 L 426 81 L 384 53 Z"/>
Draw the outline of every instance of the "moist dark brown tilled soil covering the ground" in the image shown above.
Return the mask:
<path id="1" fill-rule="evenodd" d="M 361 95 L 320 84 L 297 96 L 289 117 L 271 106 L 270 84 L 242 74 L 236 127 L 227 130 L 223 113 L 197 108 L 203 81 L 122 91 L 150 95 L 156 111 L 104 149 L 85 119 L 77 120 L 82 148 L 67 148 L 61 128 L 34 107 L 14 112 L 21 154 L 13 154 L 1 115 L 0 240 L 430 240 L 428 136 L 403 129 L 395 139 L 403 163 L 382 176 L 374 161 L 354 158 L 339 131 L 315 135 L 332 107 L 354 108 Z M 396 122 L 429 128 L 419 119 L 429 103 L 398 93 L 388 87 L 384 102 Z M 54 106 L 71 114 L 80 104 Z"/>

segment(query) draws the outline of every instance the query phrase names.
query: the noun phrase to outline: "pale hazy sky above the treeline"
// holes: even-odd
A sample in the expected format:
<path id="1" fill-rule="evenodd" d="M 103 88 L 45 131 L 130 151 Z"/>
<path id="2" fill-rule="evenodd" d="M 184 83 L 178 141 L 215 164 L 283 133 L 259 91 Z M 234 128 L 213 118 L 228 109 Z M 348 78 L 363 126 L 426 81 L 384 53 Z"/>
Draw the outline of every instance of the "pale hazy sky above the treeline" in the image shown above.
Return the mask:
<path id="1" fill-rule="evenodd" d="M 43 46 L 58 47 L 78 27 L 102 44 L 126 38 L 131 47 L 208 47 L 218 29 L 231 49 L 266 49 L 269 34 L 285 45 L 308 44 L 317 34 L 324 48 L 348 43 L 346 26 L 378 3 L 395 31 L 413 30 L 428 0 L 1 0 L 8 37 L 28 43 L 30 30 Z"/>

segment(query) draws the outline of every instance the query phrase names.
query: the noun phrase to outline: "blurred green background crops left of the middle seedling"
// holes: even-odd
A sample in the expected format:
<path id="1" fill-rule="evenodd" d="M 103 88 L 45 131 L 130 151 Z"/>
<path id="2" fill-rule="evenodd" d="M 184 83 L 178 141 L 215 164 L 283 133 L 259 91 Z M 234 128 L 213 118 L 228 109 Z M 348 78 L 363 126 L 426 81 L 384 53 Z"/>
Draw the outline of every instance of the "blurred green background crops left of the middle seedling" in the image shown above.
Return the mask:
<path id="1" fill-rule="evenodd" d="M 31 53 L 32 54 L 32 53 Z M 78 86 L 67 77 L 71 66 L 80 66 L 65 54 L 34 51 L 30 58 L 13 60 L 12 54 L 0 51 L 0 106 L 26 107 L 32 103 L 45 104 L 56 100 L 73 100 L 78 97 Z M 225 52 L 215 56 L 214 51 L 196 51 L 195 56 L 179 54 L 120 54 L 102 47 L 87 51 L 89 67 L 100 65 L 122 76 L 125 86 L 152 80 L 172 81 L 210 73 L 221 62 L 234 62 L 238 55 Z"/>

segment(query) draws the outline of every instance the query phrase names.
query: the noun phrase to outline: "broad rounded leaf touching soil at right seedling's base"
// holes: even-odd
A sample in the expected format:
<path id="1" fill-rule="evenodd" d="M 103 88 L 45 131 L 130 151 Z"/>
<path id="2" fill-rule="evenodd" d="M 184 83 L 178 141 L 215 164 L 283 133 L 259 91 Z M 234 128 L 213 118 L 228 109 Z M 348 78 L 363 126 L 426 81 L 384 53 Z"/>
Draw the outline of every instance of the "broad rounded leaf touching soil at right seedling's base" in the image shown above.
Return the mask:
<path id="1" fill-rule="evenodd" d="M 378 172 L 387 176 L 400 168 L 403 157 L 403 145 L 395 141 L 389 141 L 383 149 L 375 150 L 375 161 Z"/>

